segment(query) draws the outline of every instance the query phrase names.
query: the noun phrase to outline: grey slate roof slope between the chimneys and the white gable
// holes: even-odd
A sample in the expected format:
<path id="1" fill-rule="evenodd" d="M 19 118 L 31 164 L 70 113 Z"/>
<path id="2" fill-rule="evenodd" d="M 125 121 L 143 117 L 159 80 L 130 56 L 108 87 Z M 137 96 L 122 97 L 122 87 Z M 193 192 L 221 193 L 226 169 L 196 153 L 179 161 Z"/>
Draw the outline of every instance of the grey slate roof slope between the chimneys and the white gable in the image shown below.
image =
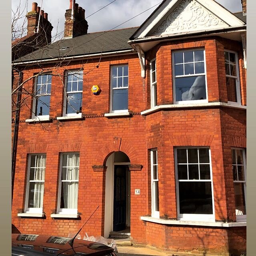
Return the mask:
<path id="1" fill-rule="evenodd" d="M 15 62 L 131 50 L 132 47 L 127 42 L 137 28 L 138 27 L 102 31 L 70 39 L 62 39 L 49 44 L 45 48 L 36 50 L 31 54 L 27 54 L 17 59 Z"/>

